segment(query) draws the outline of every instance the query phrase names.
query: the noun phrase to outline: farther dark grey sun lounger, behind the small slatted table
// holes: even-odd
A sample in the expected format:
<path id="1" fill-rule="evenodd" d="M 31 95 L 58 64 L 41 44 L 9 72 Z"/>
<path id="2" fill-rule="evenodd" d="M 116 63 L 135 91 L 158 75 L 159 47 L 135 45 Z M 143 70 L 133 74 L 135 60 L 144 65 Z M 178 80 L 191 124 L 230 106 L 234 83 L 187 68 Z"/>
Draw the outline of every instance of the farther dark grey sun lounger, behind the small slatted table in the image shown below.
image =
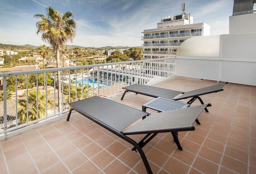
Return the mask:
<path id="1" fill-rule="evenodd" d="M 155 86 L 149 86 L 149 85 L 140 85 L 140 84 L 134 84 L 130 86 L 123 87 L 122 89 L 126 89 L 124 91 L 124 94 L 121 97 L 121 100 L 124 98 L 126 92 L 134 92 L 136 94 L 142 94 L 147 95 L 150 97 L 163 97 L 163 98 L 169 98 L 173 100 L 181 100 L 186 98 L 191 98 L 187 103 L 192 104 L 196 99 L 199 99 L 201 104 L 204 104 L 203 100 L 199 97 L 200 95 L 204 94 L 211 94 L 219 91 L 223 91 L 223 86 L 227 84 L 228 82 L 219 83 L 217 85 L 208 86 L 205 88 L 200 88 L 188 92 L 181 92 L 181 91 L 175 91 L 170 89 L 164 89 L 164 88 L 158 88 Z M 182 94 L 181 96 L 175 98 L 177 95 Z M 209 112 L 207 108 L 205 108 L 206 112 Z"/>

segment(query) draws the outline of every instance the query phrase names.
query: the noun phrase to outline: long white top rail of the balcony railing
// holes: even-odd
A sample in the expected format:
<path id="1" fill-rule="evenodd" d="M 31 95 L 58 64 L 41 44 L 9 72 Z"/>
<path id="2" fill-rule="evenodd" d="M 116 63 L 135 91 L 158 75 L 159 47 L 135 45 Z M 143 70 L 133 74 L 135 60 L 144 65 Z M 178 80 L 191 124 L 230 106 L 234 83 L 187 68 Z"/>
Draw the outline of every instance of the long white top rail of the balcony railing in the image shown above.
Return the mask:
<path id="1" fill-rule="evenodd" d="M 93 68 L 93 67 L 98 67 L 98 66 L 121 65 L 121 64 L 128 64 L 128 63 L 137 63 L 137 62 L 148 62 L 148 61 L 156 61 L 156 60 L 165 60 L 165 59 L 170 59 L 170 58 L 174 58 L 174 57 L 136 60 L 136 61 L 127 61 L 127 62 L 101 63 L 101 64 L 82 65 L 82 66 L 69 66 L 69 67 L 39 69 L 39 70 L 9 71 L 9 72 L 0 73 L 0 77 L 19 76 L 19 75 L 26 75 L 26 74 L 38 74 L 38 73 L 53 72 L 53 71 L 76 70 L 76 69 L 83 69 L 83 68 Z"/>

